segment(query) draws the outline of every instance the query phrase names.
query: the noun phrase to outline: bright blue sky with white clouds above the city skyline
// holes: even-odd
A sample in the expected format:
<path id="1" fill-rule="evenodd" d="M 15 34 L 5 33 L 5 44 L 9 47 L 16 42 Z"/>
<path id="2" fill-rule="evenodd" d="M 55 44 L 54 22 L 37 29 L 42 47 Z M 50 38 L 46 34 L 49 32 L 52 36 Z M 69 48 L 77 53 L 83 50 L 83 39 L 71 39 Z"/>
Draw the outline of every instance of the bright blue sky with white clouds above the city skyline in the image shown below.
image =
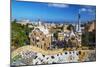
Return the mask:
<path id="1" fill-rule="evenodd" d="M 29 19 L 44 21 L 77 22 L 78 13 L 82 22 L 95 20 L 96 7 L 90 5 L 73 5 L 41 2 L 24 2 L 12 0 L 12 19 Z"/>

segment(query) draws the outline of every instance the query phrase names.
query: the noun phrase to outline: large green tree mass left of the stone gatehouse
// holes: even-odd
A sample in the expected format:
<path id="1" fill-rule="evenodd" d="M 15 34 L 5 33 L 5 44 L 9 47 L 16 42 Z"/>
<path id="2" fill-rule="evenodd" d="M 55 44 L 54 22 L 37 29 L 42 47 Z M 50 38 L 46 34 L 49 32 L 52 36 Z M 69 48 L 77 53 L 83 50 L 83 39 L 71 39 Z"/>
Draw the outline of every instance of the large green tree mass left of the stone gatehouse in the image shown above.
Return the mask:
<path id="1" fill-rule="evenodd" d="M 16 20 L 11 22 L 11 45 L 18 48 L 29 43 L 29 32 L 31 29 L 27 25 L 16 23 Z"/>

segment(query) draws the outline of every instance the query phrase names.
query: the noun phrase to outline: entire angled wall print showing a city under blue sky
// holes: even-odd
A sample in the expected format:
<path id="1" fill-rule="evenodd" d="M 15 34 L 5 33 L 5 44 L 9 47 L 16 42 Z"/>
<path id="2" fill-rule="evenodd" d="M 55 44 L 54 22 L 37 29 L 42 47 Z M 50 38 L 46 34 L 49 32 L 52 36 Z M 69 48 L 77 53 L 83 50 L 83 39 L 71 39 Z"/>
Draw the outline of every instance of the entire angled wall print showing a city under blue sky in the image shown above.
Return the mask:
<path id="1" fill-rule="evenodd" d="M 11 65 L 96 61 L 96 6 L 11 0 Z"/>

